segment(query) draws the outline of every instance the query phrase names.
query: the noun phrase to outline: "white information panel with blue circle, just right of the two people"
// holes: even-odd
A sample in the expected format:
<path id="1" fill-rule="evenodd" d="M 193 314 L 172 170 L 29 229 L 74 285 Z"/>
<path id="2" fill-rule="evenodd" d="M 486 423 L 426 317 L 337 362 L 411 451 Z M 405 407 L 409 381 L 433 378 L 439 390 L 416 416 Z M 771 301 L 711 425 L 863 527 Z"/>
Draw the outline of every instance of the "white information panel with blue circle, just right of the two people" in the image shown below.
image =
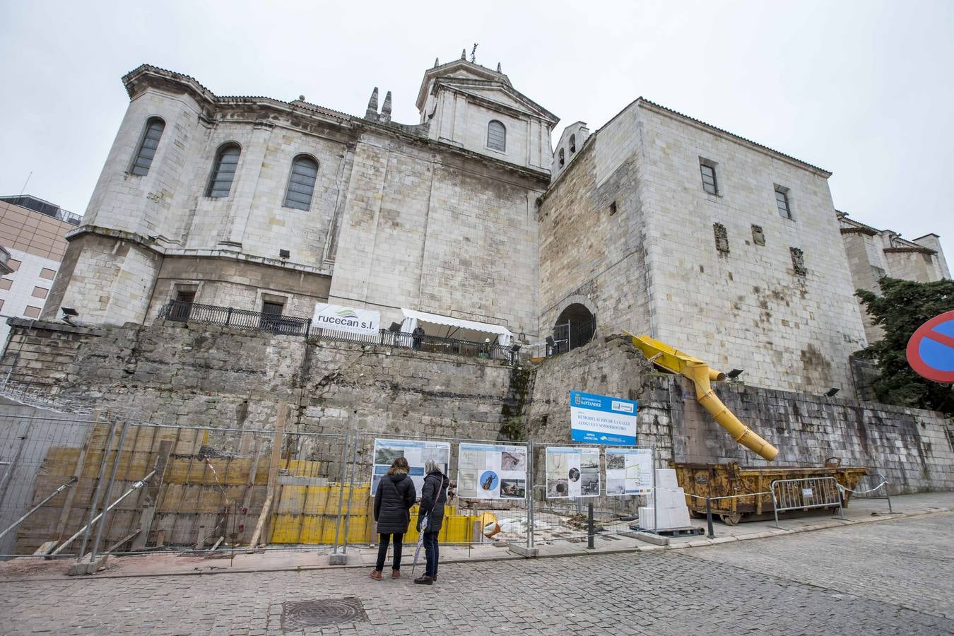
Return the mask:
<path id="1" fill-rule="evenodd" d="M 457 496 L 526 499 L 527 447 L 462 442 L 457 455 Z"/>

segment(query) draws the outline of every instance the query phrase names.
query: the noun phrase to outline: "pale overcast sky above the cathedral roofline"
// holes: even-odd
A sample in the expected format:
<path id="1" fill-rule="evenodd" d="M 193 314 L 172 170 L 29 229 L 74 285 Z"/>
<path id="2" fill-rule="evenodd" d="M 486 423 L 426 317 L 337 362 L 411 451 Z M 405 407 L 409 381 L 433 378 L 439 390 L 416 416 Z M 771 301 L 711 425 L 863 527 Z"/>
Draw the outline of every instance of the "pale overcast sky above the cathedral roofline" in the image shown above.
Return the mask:
<path id="1" fill-rule="evenodd" d="M 954 2 L 0 0 L 0 195 L 83 213 L 142 63 L 219 95 L 417 123 L 422 74 L 473 43 L 595 131 L 637 96 L 834 173 L 835 206 L 954 265 Z"/>

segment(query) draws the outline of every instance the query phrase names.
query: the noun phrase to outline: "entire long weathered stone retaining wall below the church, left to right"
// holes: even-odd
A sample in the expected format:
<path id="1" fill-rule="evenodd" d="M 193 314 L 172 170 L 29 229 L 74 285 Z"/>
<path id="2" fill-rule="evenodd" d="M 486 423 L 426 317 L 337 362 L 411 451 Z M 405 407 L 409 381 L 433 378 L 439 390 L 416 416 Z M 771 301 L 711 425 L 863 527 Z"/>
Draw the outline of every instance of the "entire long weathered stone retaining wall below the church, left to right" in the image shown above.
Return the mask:
<path id="1" fill-rule="evenodd" d="M 376 435 L 474 440 L 570 440 L 571 389 L 639 401 L 638 441 L 657 460 L 764 463 L 703 412 L 688 380 L 653 371 L 631 342 L 596 339 L 533 369 L 220 327 L 157 322 L 98 331 L 14 323 L 4 370 L 54 388 L 61 400 L 114 408 L 136 420 L 286 430 L 359 429 Z M 29 355 L 28 355 L 29 354 Z M 736 416 L 779 449 L 775 463 L 879 468 L 896 492 L 954 489 L 944 418 L 874 402 L 715 383 Z M 329 454 L 325 454 L 328 456 Z M 365 459 L 365 458 L 363 458 Z M 329 469 L 334 464 L 329 463 Z"/>

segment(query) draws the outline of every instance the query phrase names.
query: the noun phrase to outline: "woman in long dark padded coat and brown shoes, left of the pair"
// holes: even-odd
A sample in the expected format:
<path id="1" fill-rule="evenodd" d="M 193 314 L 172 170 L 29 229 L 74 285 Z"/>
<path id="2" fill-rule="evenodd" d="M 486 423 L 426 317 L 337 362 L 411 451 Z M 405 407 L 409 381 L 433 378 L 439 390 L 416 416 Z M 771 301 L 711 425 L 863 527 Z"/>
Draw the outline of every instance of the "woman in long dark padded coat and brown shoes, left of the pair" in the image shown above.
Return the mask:
<path id="1" fill-rule="evenodd" d="M 378 542 L 378 563 L 371 578 L 381 581 L 381 571 L 384 569 L 384 557 L 387 556 L 387 544 L 394 537 L 394 564 L 391 565 L 391 578 L 401 576 L 401 547 L 404 544 L 404 533 L 407 524 L 411 521 L 411 506 L 417 499 L 417 490 L 414 482 L 407 477 L 410 468 L 407 460 L 399 457 L 391 463 L 387 474 L 378 482 L 378 491 L 374 495 L 374 521 L 378 522 L 378 533 L 381 541 Z"/>

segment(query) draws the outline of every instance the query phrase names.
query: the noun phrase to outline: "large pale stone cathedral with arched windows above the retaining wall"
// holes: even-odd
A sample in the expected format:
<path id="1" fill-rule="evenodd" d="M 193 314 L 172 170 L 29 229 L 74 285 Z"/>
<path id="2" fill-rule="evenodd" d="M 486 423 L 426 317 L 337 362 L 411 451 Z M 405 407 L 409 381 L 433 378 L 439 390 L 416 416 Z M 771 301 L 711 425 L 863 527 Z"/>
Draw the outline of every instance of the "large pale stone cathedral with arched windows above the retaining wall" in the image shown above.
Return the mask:
<path id="1" fill-rule="evenodd" d="M 836 210 L 830 173 L 637 98 L 591 133 L 463 57 L 420 120 L 123 77 L 129 108 L 41 318 L 149 324 L 169 301 L 310 317 L 316 302 L 508 332 L 646 333 L 757 386 L 855 394 L 882 275 L 950 277 L 938 236 Z M 440 334 L 439 334 L 440 335 Z"/>

